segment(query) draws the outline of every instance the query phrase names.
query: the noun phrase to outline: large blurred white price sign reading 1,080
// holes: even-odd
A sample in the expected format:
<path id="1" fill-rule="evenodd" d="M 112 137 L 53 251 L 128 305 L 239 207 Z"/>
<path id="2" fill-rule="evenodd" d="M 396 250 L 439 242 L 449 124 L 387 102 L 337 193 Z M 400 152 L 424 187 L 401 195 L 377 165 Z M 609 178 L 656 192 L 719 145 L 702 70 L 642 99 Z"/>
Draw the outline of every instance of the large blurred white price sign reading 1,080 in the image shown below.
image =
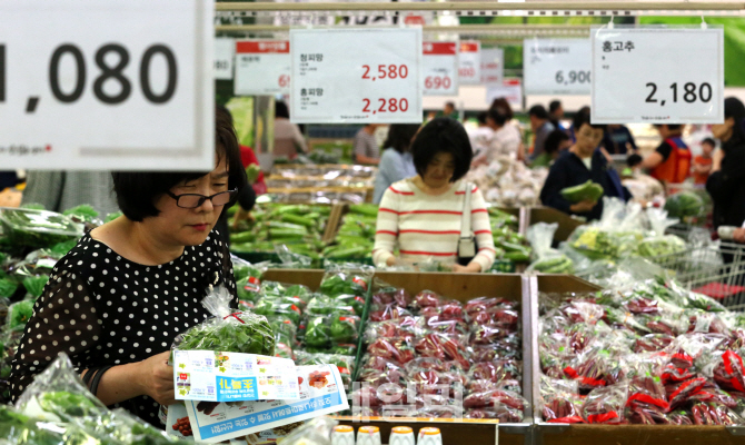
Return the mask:
<path id="1" fill-rule="evenodd" d="M 212 8 L 0 2 L 0 166 L 210 170 Z"/>

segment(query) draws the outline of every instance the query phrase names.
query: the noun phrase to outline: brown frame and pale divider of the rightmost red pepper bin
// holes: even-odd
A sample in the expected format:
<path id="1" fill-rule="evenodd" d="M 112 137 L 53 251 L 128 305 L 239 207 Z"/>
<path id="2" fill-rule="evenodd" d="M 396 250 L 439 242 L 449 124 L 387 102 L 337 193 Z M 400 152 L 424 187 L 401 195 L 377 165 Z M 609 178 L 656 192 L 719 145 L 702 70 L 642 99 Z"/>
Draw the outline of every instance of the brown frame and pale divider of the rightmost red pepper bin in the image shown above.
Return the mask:
<path id="1" fill-rule="evenodd" d="M 538 352 L 538 294 L 540 291 L 594 291 L 597 286 L 566 275 L 526 278 L 530 290 L 532 350 L 534 376 L 534 444 L 539 445 L 735 445 L 745 444 L 745 427 L 678 425 L 568 425 L 543 422 L 539 409 L 540 360 Z"/>

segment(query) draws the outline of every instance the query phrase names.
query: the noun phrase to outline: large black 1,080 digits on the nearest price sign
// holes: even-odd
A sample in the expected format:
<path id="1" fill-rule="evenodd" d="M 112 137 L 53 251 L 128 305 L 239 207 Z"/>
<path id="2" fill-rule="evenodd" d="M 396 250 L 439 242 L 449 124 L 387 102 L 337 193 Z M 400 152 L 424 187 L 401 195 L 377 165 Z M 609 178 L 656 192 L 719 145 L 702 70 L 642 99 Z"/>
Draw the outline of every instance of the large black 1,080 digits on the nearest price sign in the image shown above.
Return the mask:
<path id="1" fill-rule="evenodd" d="M 6 91 L 9 88 L 6 76 L 6 55 L 11 49 L 7 44 L 0 44 L 0 103 L 6 101 Z M 111 55 L 115 55 L 113 57 Z M 138 55 L 139 79 L 129 79 L 123 70 L 129 66 L 130 56 L 127 47 L 119 43 L 107 43 L 101 46 L 93 56 L 96 69 L 88 67 L 83 51 L 74 43 L 58 46 L 51 53 L 48 63 L 49 89 L 52 96 L 62 103 L 74 103 L 86 93 L 87 80 L 92 80 L 91 92 L 102 103 L 118 105 L 126 101 L 131 95 L 133 83 L 139 83 L 142 96 L 151 103 L 167 103 L 175 95 L 178 83 L 178 67 L 173 51 L 166 44 L 151 44 L 142 55 Z M 74 66 L 74 81 L 72 88 L 64 90 L 60 76 L 60 66 L 69 58 Z M 162 58 L 166 63 L 167 80 L 161 91 L 155 91 L 150 81 L 150 67 L 157 58 Z M 113 82 L 117 88 L 109 87 L 107 92 L 105 85 Z M 116 93 L 110 91 L 115 90 Z M 28 98 L 26 112 L 33 112 L 39 105 L 38 96 Z"/>

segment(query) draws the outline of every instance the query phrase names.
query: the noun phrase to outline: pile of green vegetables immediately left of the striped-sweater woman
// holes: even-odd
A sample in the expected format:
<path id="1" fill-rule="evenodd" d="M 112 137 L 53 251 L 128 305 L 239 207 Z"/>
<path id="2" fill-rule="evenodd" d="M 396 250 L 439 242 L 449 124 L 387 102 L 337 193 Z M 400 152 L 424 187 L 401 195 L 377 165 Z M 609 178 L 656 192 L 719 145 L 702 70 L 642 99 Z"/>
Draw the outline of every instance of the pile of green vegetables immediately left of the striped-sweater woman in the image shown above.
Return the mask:
<path id="1" fill-rule="evenodd" d="M 372 264 L 372 246 L 378 220 L 378 206 L 357 204 L 349 206 L 344 222 L 331 246 L 324 249 L 330 261 L 355 260 Z"/>

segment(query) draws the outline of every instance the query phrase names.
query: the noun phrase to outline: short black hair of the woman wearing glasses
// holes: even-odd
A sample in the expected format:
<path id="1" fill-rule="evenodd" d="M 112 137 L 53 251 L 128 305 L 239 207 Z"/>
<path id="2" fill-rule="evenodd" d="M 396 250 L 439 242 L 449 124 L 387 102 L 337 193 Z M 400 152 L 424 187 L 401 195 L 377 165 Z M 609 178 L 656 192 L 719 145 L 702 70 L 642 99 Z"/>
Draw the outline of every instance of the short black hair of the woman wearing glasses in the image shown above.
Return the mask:
<path id="1" fill-rule="evenodd" d="M 232 118 L 225 107 L 215 111 L 215 154 L 218 164 L 226 160 L 228 168 L 228 189 L 246 187 L 246 170 L 240 159 L 240 147 L 232 127 Z M 115 171 L 113 191 L 119 209 L 132 221 L 142 221 L 158 216 L 155 206 L 158 197 L 183 181 L 208 175 L 209 171 Z M 232 202 L 227 205 L 229 207 Z"/>

